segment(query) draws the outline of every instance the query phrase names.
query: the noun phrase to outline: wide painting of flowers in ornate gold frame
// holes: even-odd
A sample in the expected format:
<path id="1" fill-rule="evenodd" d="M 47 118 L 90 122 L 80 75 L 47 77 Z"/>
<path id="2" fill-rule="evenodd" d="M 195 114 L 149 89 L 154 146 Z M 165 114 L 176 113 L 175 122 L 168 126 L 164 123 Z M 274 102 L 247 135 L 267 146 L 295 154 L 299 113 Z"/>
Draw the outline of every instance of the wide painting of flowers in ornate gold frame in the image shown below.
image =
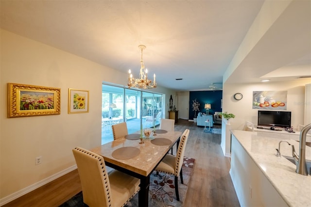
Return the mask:
<path id="1" fill-rule="evenodd" d="M 60 114 L 60 88 L 8 83 L 8 118 Z"/>

